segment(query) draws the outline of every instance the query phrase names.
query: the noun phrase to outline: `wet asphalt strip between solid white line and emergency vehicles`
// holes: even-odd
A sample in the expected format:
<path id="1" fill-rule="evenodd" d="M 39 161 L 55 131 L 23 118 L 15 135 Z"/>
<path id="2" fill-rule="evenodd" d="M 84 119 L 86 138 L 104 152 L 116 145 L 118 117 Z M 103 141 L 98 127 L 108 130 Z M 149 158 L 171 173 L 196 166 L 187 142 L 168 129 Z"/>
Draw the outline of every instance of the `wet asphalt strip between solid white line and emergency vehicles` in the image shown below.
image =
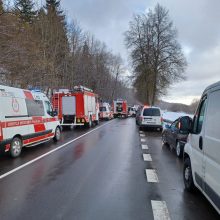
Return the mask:
<path id="1" fill-rule="evenodd" d="M 105 123 L 106 122 L 102 121 L 100 122 L 98 126 L 102 126 Z M 27 163 L 28 161 L 31 161 L 53 149 L 56 149 L 60 145 L 65 144 L 68 141 L 74 138 L 77 138 L 85 134 L 86 132 L 91 131 L 94 128 L 88 129 L 85 127 L 79 127 L 73 130 L 69 130 L 68 128 L 65 128 L 62 132 L 61 140 L 59 142 L 54 142 L 53 140 L 50 140 L 48 142 L 45 142 L 43 144 L 39 144 L 33 147 L 24 147 L 22 149 L 21 155 L 18 158 L 11 158 L 8 153 L 1 154 L 0 155 L 0 167 L 1 167 L 0 176 L 4 173 L 9 172 L 12 169 L 15 169 L 16 167 L 21 166 L 22 164 Z"/>

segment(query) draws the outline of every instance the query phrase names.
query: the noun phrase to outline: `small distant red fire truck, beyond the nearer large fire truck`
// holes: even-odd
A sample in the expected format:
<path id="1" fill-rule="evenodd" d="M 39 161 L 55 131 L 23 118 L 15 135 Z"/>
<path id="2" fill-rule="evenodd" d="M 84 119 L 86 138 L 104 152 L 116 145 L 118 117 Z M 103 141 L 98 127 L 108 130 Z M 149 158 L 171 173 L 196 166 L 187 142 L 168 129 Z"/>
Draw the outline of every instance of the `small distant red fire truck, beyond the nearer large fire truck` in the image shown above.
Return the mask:
<path id="1" fill-rule="evenodd" d="M 113 101 L 113 114 L 114 117 L 128 117 L 128 104 L 126 100 L 117 99 Z"/>

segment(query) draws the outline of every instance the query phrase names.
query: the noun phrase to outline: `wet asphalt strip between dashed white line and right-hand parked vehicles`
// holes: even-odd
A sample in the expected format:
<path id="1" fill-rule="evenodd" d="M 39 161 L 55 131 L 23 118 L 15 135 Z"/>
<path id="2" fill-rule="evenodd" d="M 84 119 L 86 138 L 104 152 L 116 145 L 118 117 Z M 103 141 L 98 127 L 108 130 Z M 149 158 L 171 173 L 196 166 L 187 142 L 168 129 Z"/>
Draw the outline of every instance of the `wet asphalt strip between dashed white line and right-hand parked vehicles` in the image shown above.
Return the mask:
<path id="1" fill-rule="evenodd" d="M 183 160 L 176 157 L 167 146 L 162 146 L 159 132 L 146 132 L 147 144 L 153 162 L 147 168 L 156 169 L 159 184 L 155 186 L 166 201 L 171 219 L 219 219 L 218 213 L 199 192 L 184 190 Z"/>

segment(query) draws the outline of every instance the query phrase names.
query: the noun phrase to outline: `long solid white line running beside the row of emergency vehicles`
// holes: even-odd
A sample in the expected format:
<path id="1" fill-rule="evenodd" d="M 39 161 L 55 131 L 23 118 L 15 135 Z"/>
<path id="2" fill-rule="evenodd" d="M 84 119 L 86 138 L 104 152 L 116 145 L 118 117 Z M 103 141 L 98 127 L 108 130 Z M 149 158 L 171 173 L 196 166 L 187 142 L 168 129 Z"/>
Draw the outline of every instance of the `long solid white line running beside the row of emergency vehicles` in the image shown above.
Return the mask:
<path id="1" fill-rule="evenodd" d="M 71 141 L 68 141 L 67 143 L 65 143 L 65 144 L 63 144 L 63 145 L 57 147 L 57 148 L 54 149 L 54 150 L 48 151 L 47 153 L 42 154 L 41 156 L 36 157 L 35 159 L 30 160 L 30 161 L 28 161 L 27 163 L 24 163 L 24 164 L 22 164 L 21 166 L 16 167 L 15 169 L 10 170 L 9 172 L 0 175 L 0 179 L 3 179 L 3 178 L 9 176 L 9 175 L 12 174 L 12 173 L 15 173 L 16 171 L 21 170 L 22 168 L 24 168 L 24 167 L 26 167 L 26 166 L 28 166 L 28 165 L 30 165 L 30 164 L 32 164 L 32 163 L 34 163 L 34 162 L 36 162 L 36 161 L 42 159 L 42 158 L 44 158 L 44 157 L 46 157 L 46 156 L 48 156 L 48 155 L 50 155 L 50 154 L 52 154 L 52 153 L 54 153 L 54 152 L 56 152 L 56 151 L 58 151 L 58 150 L 64 148 L 64 147 L 66 147 L 67 145 L 69 145 L 69 144 L 71 144 L 71 143 L 73 143 L 73 142 L 79 140 L 80 138 L 86 136 L 87 134 L 90 134 L 90 133 L 92 133 L 92 132 L 94 132 L 94 131 L 100 129 L 101 127 L 103 127 L 103 126 L 105 126 L 105 125 L 107 125 L 107 124 L 110 124 L 110 123 L 112 123 L 112 122 L 113 122 L 113 121 L 110 121 L 110 122 L 105 123 L 104 125 L 101 125 L 101 126 L 99 126 L 99 127 L 97 127 L 97 128 L 94 128 L 93 130 L 91 130 L 91 131 L 89 131 L 89 132 L 86 132 L 85 134 L 80 135 L 79 137 L 77 137 L 77 138 L 75 138 L 75 139 L 73 139 L 73 140 L 71 140 Z"/>

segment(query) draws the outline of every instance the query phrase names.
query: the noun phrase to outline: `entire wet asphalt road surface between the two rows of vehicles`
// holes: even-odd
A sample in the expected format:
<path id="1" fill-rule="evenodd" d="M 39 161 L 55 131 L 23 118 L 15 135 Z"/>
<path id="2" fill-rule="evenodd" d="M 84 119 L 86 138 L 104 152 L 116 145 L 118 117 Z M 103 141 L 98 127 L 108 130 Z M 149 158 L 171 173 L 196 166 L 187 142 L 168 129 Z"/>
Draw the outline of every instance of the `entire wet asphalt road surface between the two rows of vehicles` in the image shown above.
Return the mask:
<path id="1" fill-rule="evenodd" d="M 64 131 L 61 142 L 27 148 L 17 159 L 1 156 L 0 219 L 150 220 L 151 200 L 165 201 L 171 219 L 219 219 L 201 193 L 184 191 L 182 160 L 161 145 L 160 133 L 145 135 L 149 150 L 141 148 L 134 119 L 115 119 L 94 131 Z M 148 168 L 156 170 L 159 183 L 147 182 Z"/>

